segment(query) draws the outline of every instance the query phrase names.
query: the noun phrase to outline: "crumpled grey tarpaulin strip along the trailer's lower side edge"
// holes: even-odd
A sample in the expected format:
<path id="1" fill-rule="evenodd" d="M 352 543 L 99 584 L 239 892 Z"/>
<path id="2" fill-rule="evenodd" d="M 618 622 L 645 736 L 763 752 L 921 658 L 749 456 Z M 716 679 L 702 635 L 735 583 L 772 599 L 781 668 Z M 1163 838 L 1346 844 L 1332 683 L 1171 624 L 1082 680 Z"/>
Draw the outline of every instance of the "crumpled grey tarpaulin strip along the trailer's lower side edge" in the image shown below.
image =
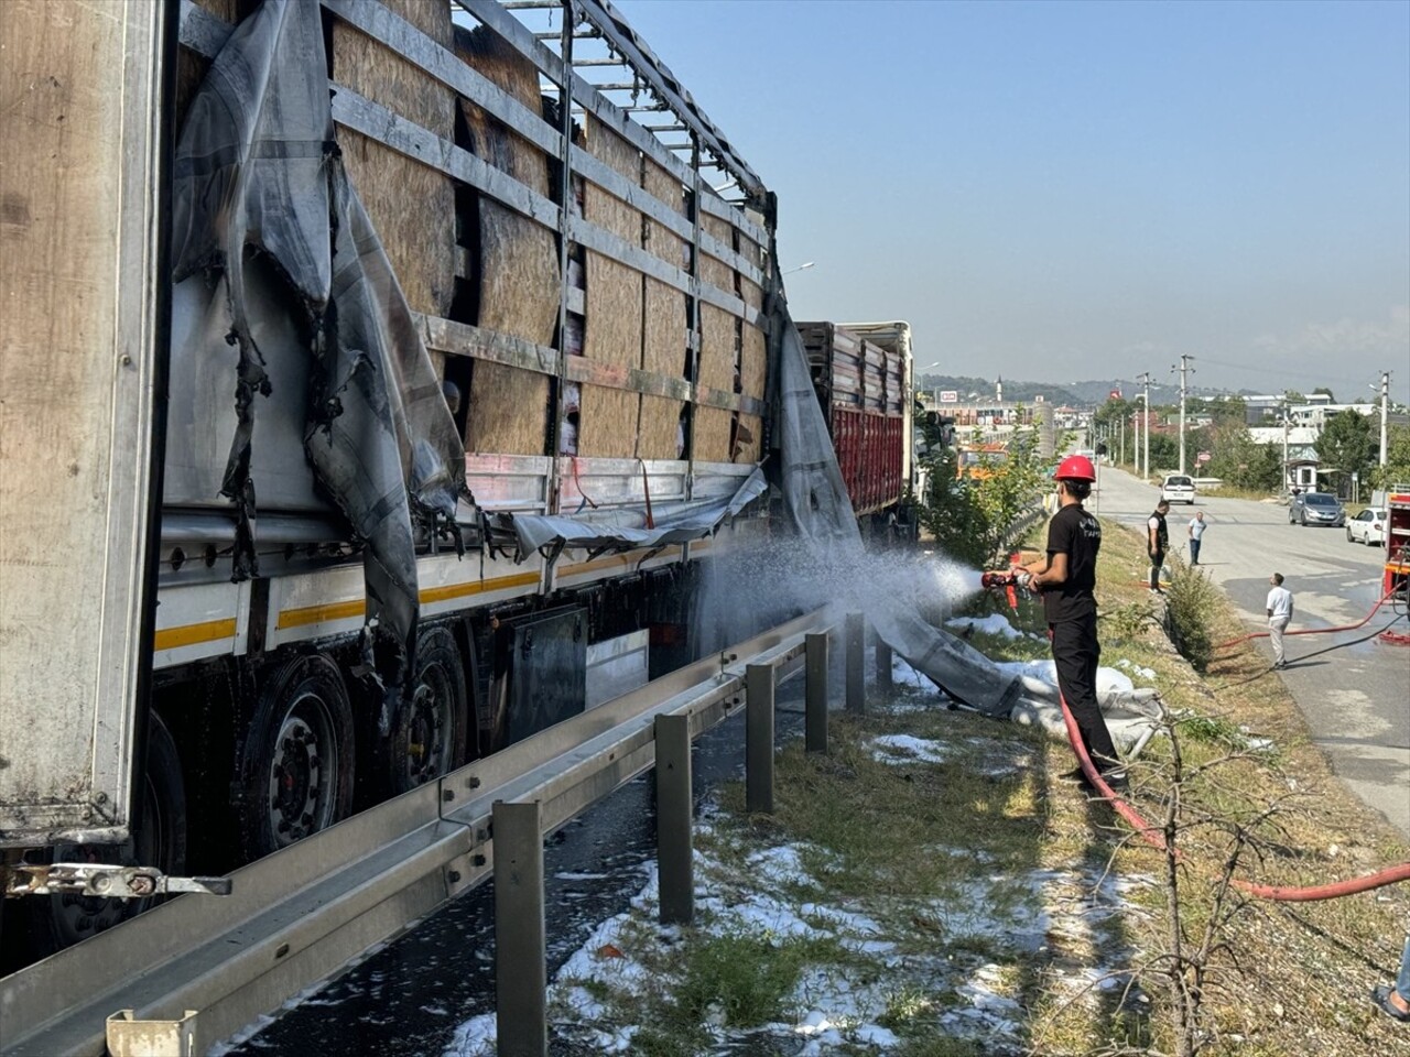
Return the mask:
<path id="1" fill-rule="evenodd" d="M 587 551 L 668 547 L 709 536 L 767 489 L 763 471 L 756 469 L 733 496 L 664 512 L 649 526 L 644 524 L 644 510 L 630 509 L 592 516 L 502 513 L 492 520 L 496 528 L 513 533 L 520 561 L 543 548 L 557 552 L 570 547 Z"/>

